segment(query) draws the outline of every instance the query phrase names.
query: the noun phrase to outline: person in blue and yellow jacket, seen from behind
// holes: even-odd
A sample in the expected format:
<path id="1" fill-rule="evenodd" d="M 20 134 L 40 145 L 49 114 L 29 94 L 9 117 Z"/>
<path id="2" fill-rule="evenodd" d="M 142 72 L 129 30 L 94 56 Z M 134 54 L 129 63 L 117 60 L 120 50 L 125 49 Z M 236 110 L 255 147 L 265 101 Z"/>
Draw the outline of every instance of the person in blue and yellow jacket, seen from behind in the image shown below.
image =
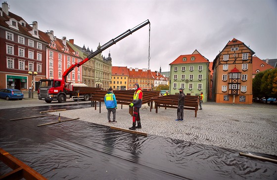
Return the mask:
<path id="1" fill-rule="evenodd" d="M 115 114 L 117 109 L 117 101 L 112 88 L 109 88 L 108 93 L 105 95 L 104 101 L 108 110 L 108 123 L 116 123 Z M 113 113 L 113 121 L 111 121 L 110 118 L 111 112 Z"/>

